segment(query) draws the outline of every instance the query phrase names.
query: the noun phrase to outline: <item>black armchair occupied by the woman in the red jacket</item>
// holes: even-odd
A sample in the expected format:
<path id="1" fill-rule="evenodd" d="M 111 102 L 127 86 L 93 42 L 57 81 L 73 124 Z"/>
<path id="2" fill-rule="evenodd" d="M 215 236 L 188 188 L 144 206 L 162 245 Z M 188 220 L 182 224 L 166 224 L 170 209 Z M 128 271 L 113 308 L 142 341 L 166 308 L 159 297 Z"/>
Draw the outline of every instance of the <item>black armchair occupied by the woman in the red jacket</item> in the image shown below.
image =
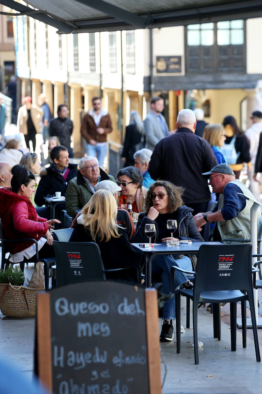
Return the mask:
<path id="1" fill-rule="evenodd" d="M 47 257 L 47 258 L 40 258 L 38 257 L 38 244 L 37 241 L 33 238 L 25 238 L 25 239 L 17 239 L 17 240 L 9 240 L 9 239 L 5 239 L 4 238 L 4 230 L 3 230 L 3 226 L 2 226 L 2 222 L 0 220 L 0 242 L 1 242 L 1 246 L 2 246 L 2 261 L 1 261 L 1 268 L 2 269 L 6 269 L 11 263 L 9 261 L 10 255 L 6 258 L 6 254 L 9 253 L 8 247 L 7 247 L 7 243 L 18 243 L 18 242 L 24 242 L 24 241 L 33 241 L 35 243 L 35 254 L 36 254 L 36 258 L 29 258 L 26 259 L 24 258 L 23 261 L 21 261 L 19 263 L 20 268 L 22 269 L 22 271 L 24 271 L 24 267 L 25 267 L 25 263 L 37 263 L 37 262 L 42 262 L 44 264 L 44 278 L 45 278 L 45 288 L 46 290 L 48 290 L 49 288 L 49 269 L 51 270 L 51 265 L 55 262 L 55 257 Z M 52 273 L 52 271 L 50 271 Z"/>

